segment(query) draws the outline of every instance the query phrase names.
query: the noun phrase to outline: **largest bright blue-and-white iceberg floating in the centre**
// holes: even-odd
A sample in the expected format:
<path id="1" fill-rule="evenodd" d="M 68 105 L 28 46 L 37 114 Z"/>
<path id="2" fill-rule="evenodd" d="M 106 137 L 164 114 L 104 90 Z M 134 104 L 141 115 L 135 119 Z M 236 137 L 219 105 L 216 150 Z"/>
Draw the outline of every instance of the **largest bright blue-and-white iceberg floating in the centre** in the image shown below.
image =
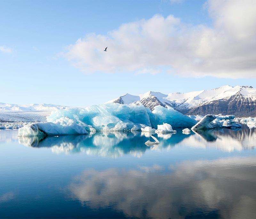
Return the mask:
<path id="1" fill-rule="evenodd" d="M 19 136 L 87 134 L 92 131 L 136 131 L 157 128 L 168 123 L 172 127 L 192 127 L 194 119 L 172 107 L 156 106 L 151 112 L 143 105 L 107 103 L 86 108 L 55 110 L 45 123 L 33 123 L 19 129 Z M 146 128 L 148 129 L 148 128 Z"/>

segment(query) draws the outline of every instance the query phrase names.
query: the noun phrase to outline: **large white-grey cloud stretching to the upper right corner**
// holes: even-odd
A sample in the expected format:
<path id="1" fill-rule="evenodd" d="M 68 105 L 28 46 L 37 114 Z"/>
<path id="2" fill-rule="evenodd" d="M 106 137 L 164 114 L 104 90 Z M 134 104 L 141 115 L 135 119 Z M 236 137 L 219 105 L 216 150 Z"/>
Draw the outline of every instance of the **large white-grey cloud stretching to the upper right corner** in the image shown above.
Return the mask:
<path id="1" fill-rule="evenodd" d="M 210 0 L 205 7 L 213 27 L 154 15 L 107 35 L 88 34 L 69 45 L 65 56 L 85 73 L 165 69 L 181 76 L 255 77 L 256 1 Z"/>

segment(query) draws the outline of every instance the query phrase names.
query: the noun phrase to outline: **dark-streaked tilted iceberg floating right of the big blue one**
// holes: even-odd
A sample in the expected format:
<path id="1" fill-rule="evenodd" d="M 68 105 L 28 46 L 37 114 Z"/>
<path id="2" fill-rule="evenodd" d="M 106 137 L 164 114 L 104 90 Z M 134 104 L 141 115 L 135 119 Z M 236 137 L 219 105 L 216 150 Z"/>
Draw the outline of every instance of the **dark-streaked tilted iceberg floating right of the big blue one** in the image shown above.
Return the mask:
<path id="1" fill-rule="evenodd" d="M 191 128 L 191 130 L 198 130 L 198 129 L 219 129 L 219 128 L 229 128 L 229 129 L 236 129 L 241 128 L 242 125 L 238 123 L 234 123 L 234 121 L 227 121 L 225 118 L 231 118 L 233 116 L 227 117 L 224 116 L 222 119 L 218 119 L 219 115 L 205 115 L 203 119 L 201 119 L 199 122 L 196 123 L 195 126 Z"/>

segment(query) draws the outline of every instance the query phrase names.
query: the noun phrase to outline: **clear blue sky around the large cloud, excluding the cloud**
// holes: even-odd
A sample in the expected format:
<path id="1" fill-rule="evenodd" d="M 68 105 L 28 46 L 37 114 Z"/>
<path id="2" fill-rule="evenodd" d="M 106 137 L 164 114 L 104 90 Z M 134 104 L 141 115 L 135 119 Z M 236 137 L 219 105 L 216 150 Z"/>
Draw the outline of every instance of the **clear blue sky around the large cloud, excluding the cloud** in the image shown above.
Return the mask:
<path id="1" fill-rule="evenodd" d="M 122 24 L 149 20 L 156 14 L 164 19 L 169 15 L 179 18 L 182 25 L 177 27 L 178 31 L 183 26 L 186 30 L 198 25 L 212 28 L 217 19 L 214 21 L 209 16 L 205 4 L 205 1 L 167 0 L 0 1 L 0 102 L 88 106 L 125 93 L 135 95 L 148 90 L 171 93 L 212 89 L 226 84 L 256 86 L 254 77 L 244 78 L 245 73 L 234 79 L 230 69 L 227 70 L 230 78 L 228 74 L 220 78 L 221 74 L 215 77 L 212 73 L 170 73 L 162 63 L 156 63 L 156 68 L 160 69 L 158 74 L 152 74 L 148 69 L 145 74 L 138 74 L 140 69 L 136 67 L 127 71 L 125 65 L 129 63 L 126 63 L 112 73 L 97 67 L 84 71 L 84 66 L 77 64 L 80 60 L 86 66 L 97 66 L 97 62 L 101 62 L 96 59 L 88 63 L 84 58 L 87 54 L 75 54 L 75 60 L 70 56 L 67 58 L 68 46 L 74 46 L 79 38 L 83 41 L 87 34 L 109 38 L 109 32 L 118 30 Z M 109 46 L 101 45 L 96 38 L 95 42 L 102 50 Z M 109 49 L 111 52 L 111 47 Z"/>

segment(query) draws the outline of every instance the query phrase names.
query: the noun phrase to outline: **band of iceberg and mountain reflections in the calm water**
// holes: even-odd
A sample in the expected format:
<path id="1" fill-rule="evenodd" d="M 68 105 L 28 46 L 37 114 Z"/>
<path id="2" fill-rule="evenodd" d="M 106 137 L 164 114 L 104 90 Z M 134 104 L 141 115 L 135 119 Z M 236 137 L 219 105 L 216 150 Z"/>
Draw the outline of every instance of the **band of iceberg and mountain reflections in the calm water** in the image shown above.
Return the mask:
<path id="1" fill-rule="evenodd" d="M 144 143 L 150 133 L 143 132 L 96 132 L 90 135 L 59 137 L 19 137 L 19 143 L 32 147 L 49 147 L 53 153 L 86 153 L 94 156 L 120 157 L 131 154 L 140 157 L 146 150 L 171 150 L 173 147 L 215 147 L 218 150 L 234 151 L 253 149 L 256 146 L 256 129 L 244 125 L 242 129 L 199 130 L 189 135 L 154 134 L 160 144 L 147 146 Z"/>

